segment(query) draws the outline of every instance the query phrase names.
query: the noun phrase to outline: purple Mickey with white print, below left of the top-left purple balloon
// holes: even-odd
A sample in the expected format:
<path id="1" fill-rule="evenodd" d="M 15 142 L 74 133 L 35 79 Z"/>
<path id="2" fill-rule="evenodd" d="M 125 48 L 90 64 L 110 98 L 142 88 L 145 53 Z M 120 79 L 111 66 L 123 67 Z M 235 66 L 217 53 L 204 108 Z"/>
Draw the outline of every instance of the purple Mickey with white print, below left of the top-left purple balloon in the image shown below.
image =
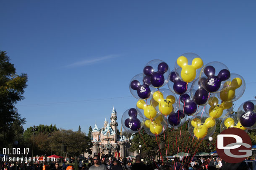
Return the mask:
<path id="1" fill-rule="evenodd" d="M 151 90 L 149 88 L 149 85 L 146 84 L 144 81 L 144 80 L 148 80 L 148 79 L 149 79 L 148 76 L 144 76 L 144 79 L 143 79 L 144 84 L 140 84 L 140 82 L 138 80 L 131 81 L 131 84 L 130 84 L 131 89 L 136 90 L 138 96 L 141 99 L 148 99 L 150 96 Z"/>

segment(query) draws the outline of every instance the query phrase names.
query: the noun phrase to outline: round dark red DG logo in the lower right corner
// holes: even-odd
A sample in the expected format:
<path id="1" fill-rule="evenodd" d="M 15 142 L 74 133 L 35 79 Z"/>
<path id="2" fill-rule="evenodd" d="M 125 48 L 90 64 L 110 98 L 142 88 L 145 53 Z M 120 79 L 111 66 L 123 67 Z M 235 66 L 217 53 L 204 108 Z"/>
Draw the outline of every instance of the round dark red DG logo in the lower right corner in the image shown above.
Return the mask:
<path id="1" fill-rule="evenodd" d="M 216 150 L 225 162 L 242 162 L 252 155 L 251 138 L 242 129 L 235 127 L 223 130 L 217 136 Z"/>

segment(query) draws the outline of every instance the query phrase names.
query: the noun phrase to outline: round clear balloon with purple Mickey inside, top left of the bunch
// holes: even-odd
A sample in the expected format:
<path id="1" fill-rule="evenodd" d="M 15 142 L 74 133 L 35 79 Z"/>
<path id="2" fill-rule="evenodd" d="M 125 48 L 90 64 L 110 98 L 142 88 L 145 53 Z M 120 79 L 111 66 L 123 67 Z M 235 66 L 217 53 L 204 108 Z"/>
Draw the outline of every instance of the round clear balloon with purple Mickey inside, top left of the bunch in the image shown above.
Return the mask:
<path id="1" fill-rule="evenodd" d="M 152 60 L 143 69 L 144 81 L 149 86 L 159 88 L 165 86 L 170 79 L 170 68 L 162 60 Z"/>

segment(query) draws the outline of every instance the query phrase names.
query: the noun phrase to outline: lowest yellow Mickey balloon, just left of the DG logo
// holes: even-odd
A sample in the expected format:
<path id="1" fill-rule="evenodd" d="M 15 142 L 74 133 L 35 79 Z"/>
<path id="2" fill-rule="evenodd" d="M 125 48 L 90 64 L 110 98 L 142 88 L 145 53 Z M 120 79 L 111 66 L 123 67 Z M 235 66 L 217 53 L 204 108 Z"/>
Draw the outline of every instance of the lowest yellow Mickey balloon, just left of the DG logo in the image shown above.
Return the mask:
<path id="1" fill-rule="evenodd" d="M 208 133 L 208 129 L 211 127 L 214 127 L 215 120 L 211 117 L 208 117 L 204 123 L 201 123 L 201 120 L 199 118 L 194 118 L 191 121 L 191 125 L 194 127 L 193 134 L 198 138 L 202 139 L 206 137 L 206 134 Z"/>

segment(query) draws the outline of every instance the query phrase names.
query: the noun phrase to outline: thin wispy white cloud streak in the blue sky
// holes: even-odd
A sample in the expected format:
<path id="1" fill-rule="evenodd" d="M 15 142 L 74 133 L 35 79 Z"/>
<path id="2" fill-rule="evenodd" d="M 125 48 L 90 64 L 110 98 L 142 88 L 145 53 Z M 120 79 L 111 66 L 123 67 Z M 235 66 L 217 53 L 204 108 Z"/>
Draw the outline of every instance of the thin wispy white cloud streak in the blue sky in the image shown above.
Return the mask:
<path id="1" fill-rule="evenodd" d="M 98 57 L 98 58 L 91 58 L 88 60 L 83 60 L 83 61 L 78 61 L 76 63 L 72 63 L 72 64 L 68 65 L 68 67 L 78 67 L 78 66 L 85 66 L 85 65 L 89 65 L 89 64 L 95 64 L 95 63 L 98 63 L 99 61 L 107 60 L 107 59 L 115 58 L 115 57 L 119 57 L 119 56 L 120 55 L 112 54 L 112 55 Z"/>

